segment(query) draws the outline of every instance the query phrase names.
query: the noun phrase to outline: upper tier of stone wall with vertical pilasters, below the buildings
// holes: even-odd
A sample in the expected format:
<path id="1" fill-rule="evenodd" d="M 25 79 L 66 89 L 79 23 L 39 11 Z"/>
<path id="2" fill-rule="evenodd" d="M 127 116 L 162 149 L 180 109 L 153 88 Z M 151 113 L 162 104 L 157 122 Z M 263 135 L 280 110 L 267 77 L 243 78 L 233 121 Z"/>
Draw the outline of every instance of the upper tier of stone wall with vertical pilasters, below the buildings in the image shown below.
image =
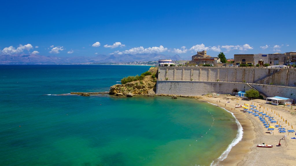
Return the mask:
<path id="1" fill-rule="evenodd" d="M 160 67 L 158 80 L 249 82 L 263 78 L 279 69 L 237 67 Z M 257 82 L 283 86 L 296 85 L 296 70 L 281 69 Z"/>

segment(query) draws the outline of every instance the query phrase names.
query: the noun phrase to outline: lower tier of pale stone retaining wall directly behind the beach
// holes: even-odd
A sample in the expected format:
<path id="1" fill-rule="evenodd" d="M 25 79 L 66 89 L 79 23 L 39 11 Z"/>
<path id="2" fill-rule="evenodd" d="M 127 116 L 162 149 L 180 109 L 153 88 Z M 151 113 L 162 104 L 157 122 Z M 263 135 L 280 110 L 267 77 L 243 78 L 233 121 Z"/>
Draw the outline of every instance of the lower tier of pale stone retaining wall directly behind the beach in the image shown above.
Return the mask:
<path id="1" fill-rule="evenodd" d="M 268 97 L 281 96 L 296 101 L 296 88 L 263 84 L 251 84 Z M 166 81 L 159 80 L 156 84 L 156 94 L 198 96 L 210 93 L 234 94 L 237 91 L 251 89 L 246 83 L 212 82 L 212 81 Z"/>

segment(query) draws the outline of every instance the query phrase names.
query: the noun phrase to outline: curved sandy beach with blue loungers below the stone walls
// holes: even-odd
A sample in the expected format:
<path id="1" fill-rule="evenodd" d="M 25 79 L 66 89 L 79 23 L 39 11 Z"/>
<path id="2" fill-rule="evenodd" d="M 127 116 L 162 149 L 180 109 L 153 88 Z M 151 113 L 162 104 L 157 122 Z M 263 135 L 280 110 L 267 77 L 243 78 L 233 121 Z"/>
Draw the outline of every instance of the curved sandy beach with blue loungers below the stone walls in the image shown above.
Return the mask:
<path id="1" fill-rule="evenodd" d="M 278 128 L 275 128 L 273 133 L 263 126 L 259 121 L 258 117 L 252 114 L 244 113 L 241 110 L 243 108 L 235 108 L 236 104 L 244 105 L 251 104 L 251 100 L 242 99 L 230 95 L 213 95 L 213 96 L 202 96 L 203 101 L 207 101 L 213 104 L 217 104 L 226 110 L 234 113 L 243 127 L 243 137 L 237 145 L 235 145 L 229 152 L 227 158 L 221 161 L 218 165 L 238 165 L 238 166 L 249 166 L 249 165 L 296 165 L 296 139 L 295 133 L 279 133 Z M 286 129 L 295 130 L 296 127 L 296 116 L 292 115 L 291 112 L 295 112 L 296 107 L 283 107 L 283 105 L 275 106 L 266 104 L 266 100 L 255 99 L 252 100 L 252 104 L 260 108 L 267 115 L 270 114 L 275 117 L 275 120 L 283 125 Z M 268 111 L 267 111 L 268 109 Z M 259 109 L 258 109 L 259 110 Z M 272 113 L 271 113 L 272 110 Z M 284 120 L 287 120 L 287 124 L 279 117 L 280 114 Z M 289 123 L 289 125 L 288 125 Z M 275 126 L 276 123 L 271 123 L 271 126 Z M 284 137 L 286 135 L 286 137 Z M 287 141 L 287 147 L 284 140 L 281 140 L 281 146 L 277 147 L 281 138 L 285 138 Z M 256 147 L 256 144 L 271 144 L 274 145 L 272 148 L 260 148 Z"/>

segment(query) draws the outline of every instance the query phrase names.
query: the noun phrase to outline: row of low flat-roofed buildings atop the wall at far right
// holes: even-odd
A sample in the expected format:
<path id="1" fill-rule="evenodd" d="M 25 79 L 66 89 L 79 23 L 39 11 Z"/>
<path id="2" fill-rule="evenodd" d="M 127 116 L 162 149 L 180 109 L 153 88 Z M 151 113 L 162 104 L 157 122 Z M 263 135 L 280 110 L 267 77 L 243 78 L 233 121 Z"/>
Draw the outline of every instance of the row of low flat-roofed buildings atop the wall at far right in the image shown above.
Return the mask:
<path id="1" fill-rule="evenodd" d="M 234 54 L 235 64 L 252 64 L 252 65 L 282 65 L 294 64 L 296 61 L 296 52 L 273 53 L 273 54 Z"/>

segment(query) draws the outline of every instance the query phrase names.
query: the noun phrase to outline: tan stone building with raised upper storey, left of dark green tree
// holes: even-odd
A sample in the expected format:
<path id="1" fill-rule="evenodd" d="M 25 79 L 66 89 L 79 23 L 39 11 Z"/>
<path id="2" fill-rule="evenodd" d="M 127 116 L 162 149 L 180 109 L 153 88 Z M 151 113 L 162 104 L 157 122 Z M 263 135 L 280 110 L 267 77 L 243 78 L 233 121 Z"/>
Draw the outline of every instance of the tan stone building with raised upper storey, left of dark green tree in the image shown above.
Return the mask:
<path id="1" fill-rule="evenodd" d="M 203 65 L 203 64 L 217 64 L 220 63 L 220 58 L 211 57 L 207 55 L 207 51 L 197 52 L 196 55 L 192 56 L 192 60 L 189 61 L 189 66 Z"/>

